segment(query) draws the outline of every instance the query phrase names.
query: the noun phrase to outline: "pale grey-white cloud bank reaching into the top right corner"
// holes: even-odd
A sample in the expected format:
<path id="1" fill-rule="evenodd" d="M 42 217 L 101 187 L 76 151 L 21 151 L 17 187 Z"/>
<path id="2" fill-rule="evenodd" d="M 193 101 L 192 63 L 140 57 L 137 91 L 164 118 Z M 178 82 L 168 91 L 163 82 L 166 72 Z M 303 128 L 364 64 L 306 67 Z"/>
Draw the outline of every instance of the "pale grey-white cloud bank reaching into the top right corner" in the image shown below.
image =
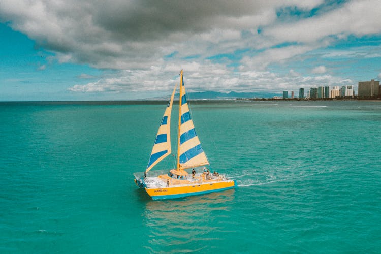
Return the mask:
<path id="1" fill-rule="evenodd" d="M 264 30 L 264 34 L 288 42 L 310 43 L 333 36 L 364 36 L 381 33 L 378 0 L 349 1 L 341 8 L 296 22 L 280 23 Z"/>

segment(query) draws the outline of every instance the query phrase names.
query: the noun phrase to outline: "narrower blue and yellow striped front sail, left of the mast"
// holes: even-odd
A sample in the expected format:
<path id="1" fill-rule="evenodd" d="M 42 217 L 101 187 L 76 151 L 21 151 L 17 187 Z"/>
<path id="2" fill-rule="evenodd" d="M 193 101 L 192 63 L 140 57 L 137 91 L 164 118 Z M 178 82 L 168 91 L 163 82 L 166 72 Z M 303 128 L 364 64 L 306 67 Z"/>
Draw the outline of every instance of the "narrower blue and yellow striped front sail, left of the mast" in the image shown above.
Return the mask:
<path id="1" fill-rule="evenodd" d="M 160 127 L 157 131 L 155 143 L 153 144 L 151 156 L 149 157 L 145 174 L 147 174 L 147 172 L 152 169 L 153 166 L 155 166 L 158 162 L 162 161 L 165 157 L 171 154 L 171 111 L 175 91 L 176 86 L 173 89 L 171 99 L 168 102 L 162 122 L 160 123 Z"/>

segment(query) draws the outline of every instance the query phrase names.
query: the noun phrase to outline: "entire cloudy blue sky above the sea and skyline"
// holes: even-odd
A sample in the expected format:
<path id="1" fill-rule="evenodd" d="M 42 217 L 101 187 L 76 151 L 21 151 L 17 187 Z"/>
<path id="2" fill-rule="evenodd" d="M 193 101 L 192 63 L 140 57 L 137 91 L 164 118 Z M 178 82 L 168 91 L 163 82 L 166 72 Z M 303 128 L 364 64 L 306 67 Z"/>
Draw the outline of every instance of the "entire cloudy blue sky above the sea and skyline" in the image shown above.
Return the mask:
<path id="1" fill-rule="evenodd" d="M 379 0 L 0 0 L 0 101 L 274 92 L 381 78 Z"/>

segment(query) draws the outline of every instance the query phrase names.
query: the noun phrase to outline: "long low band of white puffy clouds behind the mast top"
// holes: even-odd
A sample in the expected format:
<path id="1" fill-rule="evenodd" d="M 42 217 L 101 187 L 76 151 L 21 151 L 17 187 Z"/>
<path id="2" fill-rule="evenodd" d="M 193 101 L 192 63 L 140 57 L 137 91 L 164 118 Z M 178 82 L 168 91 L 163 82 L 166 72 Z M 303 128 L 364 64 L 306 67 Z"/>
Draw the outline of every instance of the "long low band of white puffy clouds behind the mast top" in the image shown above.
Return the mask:
<path id="1" fill-rule="evenodd" d="M 202 68 L 202 69 L 200 69 Z M 192 70 L 192 71 L 189 71 Z M 170 94 L 175 83 L 179 82 L 178 67 L 151 68 L 150 70 L 121 71 L 113 77 L 96 82 L 77 84 L 69 88 L 72 92 L 84 93 L 128 93 L 145 91 L 157 97 Z M 196 62 L 184 71 L 184 82 L 188 92 L 219 90 L 230 91 L 271 91 L 298 90 L 300 87 L 353 84 L 352 80 L 331 75 L 303 76 L 290 70 L 284 75 L 269 71 L 242 71 L 232 75 L 233 69 L 209 62 L 200 66 Z M 168 78 L 171 77 L 171 78 Z M 144 81 L 142 81 L 144 78 Z M 164 93 L 163 93 L 164 91 Z"/>

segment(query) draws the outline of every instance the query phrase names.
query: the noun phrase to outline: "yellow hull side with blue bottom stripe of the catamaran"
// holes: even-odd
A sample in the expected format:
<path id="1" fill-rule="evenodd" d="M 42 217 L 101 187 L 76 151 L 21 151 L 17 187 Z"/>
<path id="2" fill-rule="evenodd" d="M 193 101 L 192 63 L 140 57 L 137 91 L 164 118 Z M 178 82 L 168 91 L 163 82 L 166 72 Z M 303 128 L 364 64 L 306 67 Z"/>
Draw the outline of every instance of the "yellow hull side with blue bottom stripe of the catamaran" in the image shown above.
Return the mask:
<path id="1" fill-rule="evenodd" d="M 165 188 L 145 188 L 152 199 L 174 199 L 186 196 L 201 195 L 234 188 L 235 181 L 205 182 L 186 186 L 171 186 Z"/>

